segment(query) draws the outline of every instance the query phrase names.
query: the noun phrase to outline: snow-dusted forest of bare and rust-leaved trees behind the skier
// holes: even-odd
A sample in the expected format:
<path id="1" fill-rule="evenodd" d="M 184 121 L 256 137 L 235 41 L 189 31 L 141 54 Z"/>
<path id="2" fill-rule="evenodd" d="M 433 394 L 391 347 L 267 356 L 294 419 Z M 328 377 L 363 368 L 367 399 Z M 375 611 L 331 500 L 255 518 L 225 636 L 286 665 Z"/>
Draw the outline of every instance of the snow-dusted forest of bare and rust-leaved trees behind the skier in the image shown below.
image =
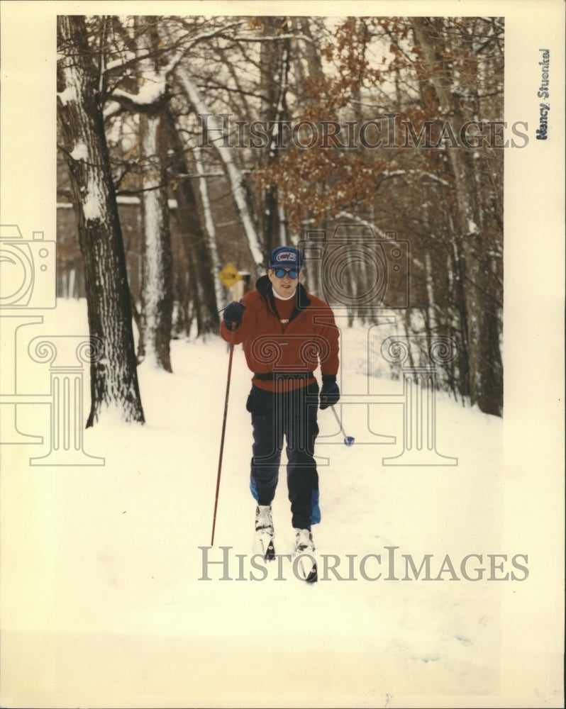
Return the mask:
<path id="1" fill-rule="evenodd" d="M 87 426 L 143 423 L 136 367 L 217 333 L 218 273 L 299 245 L 306 286 L 503 412 L 504 21 L 59 16 L 59 294 L 84 284 Z M 65 286 L 67 284 L 67 286 Z M 134 328 L 138 337 L 134 337 Z M 395 376 L 392 364 L 392 376 Z"/>

